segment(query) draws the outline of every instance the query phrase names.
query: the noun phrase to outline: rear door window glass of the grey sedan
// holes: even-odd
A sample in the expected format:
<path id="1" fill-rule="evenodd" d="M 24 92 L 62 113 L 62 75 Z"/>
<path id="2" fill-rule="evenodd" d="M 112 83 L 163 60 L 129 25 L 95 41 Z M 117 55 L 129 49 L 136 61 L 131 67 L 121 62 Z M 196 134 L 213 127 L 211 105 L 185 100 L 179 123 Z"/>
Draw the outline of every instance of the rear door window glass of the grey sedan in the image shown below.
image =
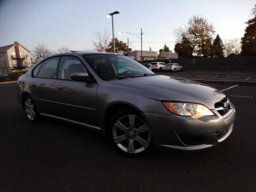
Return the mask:
<path id="1" fill-rule="evenodd" d="M 59 61 L 59 57 L 54 57 L 54 58 L 50 58 L 46 61 L 44 61 L 38 73 L 37 77 L 41 77 L 41 78 L 56 78 L 57 77 L 57 66 L 58 66 L 58 61 Z"/>

